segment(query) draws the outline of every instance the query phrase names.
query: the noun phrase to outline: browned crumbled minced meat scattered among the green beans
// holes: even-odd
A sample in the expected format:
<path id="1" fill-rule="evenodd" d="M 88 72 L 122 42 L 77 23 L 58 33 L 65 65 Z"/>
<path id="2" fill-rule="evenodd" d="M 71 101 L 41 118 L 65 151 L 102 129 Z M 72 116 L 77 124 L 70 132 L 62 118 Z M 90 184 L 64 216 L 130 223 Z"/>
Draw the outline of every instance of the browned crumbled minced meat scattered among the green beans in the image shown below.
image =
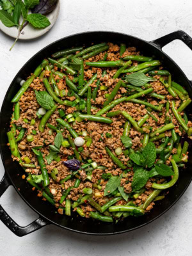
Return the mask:
<path id="1" fill-rule="evenodd" d="M 118 45 L 114 45 L 111 43 L 108 43 L 109 49 L 108 49 L 108 56 L 107 61 L 116 61 L 120 60 L 120 58 L 124 58 L 125 56 L 129 55 L 140 55 L 140 52 L 136 50 L 135 47 L 127 47 L 126 51 L 122 56 L 120 56 L 119 50 L 120 47 Z M 87 61 L 100 61 L 104 58 L 105 52 L 100 52 L 96 56 L 93 56 L 91 58 L 88 58 L 88 60 L 84 61 L 84 80 L 89 81 L 95 73 L 97 73 L 97 79 L 90 84 L 90 87 L 92 90 L 97 86 L 97 81 L 100 81 L 100 86 L 106 86 L 107 92 L 111 93 L 113 89 L 116 86 L 116 83 L 118 83 L 118 79 L 114 79 L 113 76 L 116 73 L 116 70 L 118 70 L 118 67 L 114 68 L 95 68 L 95 67 L 88 67 L 86 65 Z M 133 66 L 137 66 L 137 61 L 132 61 Z M 160 67 L 159 69 L 162 69 L 163 67 Z M 58 67 L 54 65 L 54 70 L 58 70 Z M 103 70 L 106 70 L 106 74 L 102 76 Z M 65 70 L 61 70 L 61 72 L 65 72 Z M 49 79 L 51 72 L 45 71 L 45 77 Z M 129 73 L 130 74 L 130 73 Z M 125 74 L 126 75 L 126 74 Z M 67 75 L 69 79 L 73 79 L 73 76 Z M 147 74 L 148 76 L 148 74 Z M 155 81 L 150 82 L 150 86 L 153 88 L 154 92 L 157 94 L 161 94 L 165 96 L 165 99 L 159 100 L 154 97 L 151 97 L 150 95 L 145 95 L 145 99 L 147 102 L 150 102 L 150 104 L 153 104 L 154 106 L 157 106 L 159 104 L 166 104 L 167 100 L 170 102 L 170 106 L 172 106 L 172 100 L 173 97 L 168 93 L 164 85 L 159 81 L 159 78 L 161 76 L 154 76 Z M 70 100 L 74 101 L 76 97 L 74 95 L 68 95 L 68 92 L 70 92 L 70 89 L 68 88 L 65 77 L 61 79 L 59 76 L 54 76 L 56 79 L 57 86 L 60 90 L 65 90 L 65 96 L 62 97 L 62 100 Z M 104 102 L 106 101 L 106 90 L 99 90 L 97 92 L 97 97 L 95 100 L 91 100 L 92 104 L 92 115 L 95 115 L 102 107 Z M 143 90 L 146 88 L 142 86 Z M 73 177 L 72 179 L 69 179 L 65 182 L 63 182 L 63 179 L 65 179 L 68 175 L 71 174 L 70 170 L 63 164 L 63 161 L 67 161 L 69 156 L 74 156 L 74 150 L 72 150 L 71 147 L 65 148 L 61 145 L 60 153 L 58 156 L 60 157 L 60 161 L 55 161 L 54 159 L 49 163 L 47 161 L 46 157 L 49 155 L 50 152 L 50 145 L 54 145 L 54 139 L 56 136 L 56 133 L 53 132 L 52 134 L 49 133 L 50 129 L 45 126 L 44 132 L 40 132 L 38 130 L 38 126 L 40 124 L 40 119 L 38 119 L 36 113 L 38 109 L 40 108 L 40 105 L 38 104 L 36 97 L 35 97 L 35 90 L 36 91 L 46 91 L 43 79 L 39 79 L 36 77 L 33 80 L 33 83 L 30 84 L 28 90 L 22 95 L 22 97 L 19 100 L 20 104 L 20 118 L 19 120 L 13 120 L 12 124 L 15 124 L 17 126 L 20 126 L 26 130 L 24 134 L 24 138 L 19 141 L 18 143 L 18 149 L 20 152 L 20 156 L 22 161 L 24 161 L 25 157 L 28 157 L 31 160 L 31 164 L 35 164 L 35 168 L 26 168 L 26 173 L 30 173 L 31 175 L 40 175 L 41 170 L 40 166 L 38 165 L 37 158 L 32 150 L 34 147 L 42 147 L 38 148 L 38 150 L 41 150 L 44 161 L 45 161 L 45 168 L 47 169 L 47 172 L 49 175 L 51 174 L 52 170 L 56 168 L 58 170 L 58 174 L 56 175 L 56 180 L 51 178 L 51 175 L 49 176 L 50 184 L 49 184 L 49 191 L 52 193 L 52 196 L 56 202 L 56 208 L 59 214 L 63 214 L 65 211 L 63 211 L 63 207 L 65 207 L 65 200 L 63 203 L 60 204 L 61 196 L 63 195 L 64 191 L 66 191 L 68 188 L 70 188 L 70 193 L 68 193 L 66 199 L 72 200 L 72 202 L 79 200 L 79 198 L 82 198 L 84 196 L 83 189 L 84 188 L 90 188 L 93 191 L 93 200 L 100 204 L 101 206 L 106 204 L 110 198 L 108 196 L 104 196 L 104 190 L 106 189 L 106 184 L 108 183 L 108 180 L 104 180 L 102 175 L 104 173 L 110 173 L 111 175 L 118 177 L 122 175 L 123 170 L 120 169 L 111 159 L 111 157 L 108 156 L 105 147 L 108 147 L 113 154 L 115 154 L 116 148 L 122 148 L 122 150 L 126 150 L 124 144 L 122 143 L 121 137 L 124 132 L 124 124 L 127 121 L 126 118 L 122 115 L 113 116 L 111 120 L 113 120 L 112 124 L 104 124 L 99 122 L 74 122 L 70 123 L 72 126 L 72 129 L 77 132 L 77 134 L 80 134 L 81 136 L 82 131 L 87 132 L 87 137 L 92 138 L 92 144 L 90 147 L 86 146 L 86 143 L 83 145 L 83 152 L 79 152 L 81 154 L 81 157 L 84 160 L 87 158 L 92 159 L 92 161 L 95 161 L 98 166 L 104 166 L 105 168 L 95 168 L 95 170 L 92 171 L 92 180 L 88 180 L 88 173 L 85 170 L 79 170 L 79 173 L 76 175 L 76 177 Z M 121 86 L 118 92 L 116 93 L 115 100 L 120 99 L 124 95 L 127 95 L 127 88 L 124 86 Z M 143 99 L 143 97 L 141 97 Z M 179 108 L 181 100 L 177 97 L 175 100 L 175 108 Z M 58 104 L 58 109 L 63 109 L 65 111 L 66 115 L 72 114 L 76 112 L 75 106 L 65 106 Z M 58 109 L 51 115 L 48 122 L 51 125 L 54 125 L 57 127 L 58 122 L 56 121 L 57 118 L 60 118 Z M 14 106 L 13 106 L 14 110 Z M 147 109 L 145 105 L 141 104 L 135 104 L 130 101 L 122 102 L 118 105 L 116 105 L 113 109 L 109 111 L 126 111 L 131 115 L 132 118 L 136 122 L 140 121 L 141 118 L 143 118 L 144 115 L 147 114 Z M 148 125 L 152 127 L 152 131 L 155 131 L 158 128 L 163 127 L 164 121 L 166 116 L 172 116 L 172 123 L 175 125 L 175 132 L 182 136 L 184 132 L 180 131 L 179 129 L 179 123 L 175 116 L 172 113 L 172 109 L 170 108 L 169 112 L 166 113 L 165 106 L 163 107 L 161 111 L 161 115 L 157 111 L 154 111 L 152 109 L 152 115 L 156 116 L 157 122 L 152 118 L 148 118 L 147 122 L 143 125 L 143 131 L 146 133 L 150 132 L 150 129 L 148 129 Z M 180 113 L 180 115 L 184 115 L 184 112 Z M 106 117 L 106 113 L 102 115 Z M 28 120 L 28 123 L 24 122 L 24 118 Z M 35 120 L 35 124 L 31 125 L 31 120 Z M 67 119 L 65 118 L 65 121 Z M 10 127 L 12 127 L 12 124 Z M 192 123 L 188 122 L 188 127 L 191 127 Z M 63 139 L 67 139 L 67 136 L 70 134 L 67 129 L 63 129 L 62 127 L 61 133 L 63 136 Z M 36 134 L 33 134 L 33 141 L 28 142 L 26 139 L 29 134 L 32 134 L 33 131 L 36 131 Z M 107 133 L 111 134 L 111 138 L 108 138 L 106 136 Z M 16 131 L 16 138 L 19 135 L 19 130 Z M 172 134 L 170 131 L 165 132 L 165 136 L 171 137 Z M 81 136 L 83 137 L 83 136 Z M 140 150 L 142 147 L 142 141 L 143 141 L 143 134 L 141 132 L 136 131 L 136 129 L 131 126 L 129 137 L 132 139 L 132 148 L 134 150 Z M 83 137 L 84 138 L 84 137 Z M 86 140 L 86 138 L 84 138 Z M 159 146 L 161 143 L 160 141 L 154 141 L 156 147 Z M 168 144 L 169 145 L 169 144 Z M 177 154 L 177 148 L 172 149 L 172 154 Z M 116 154 L 115 154 L 116 155 Z M 124 154 L 120 154 L 120 156 L 116 156 L 122 163 L 126 166 L 128 161 L 130 161 L 129 156 L 125 156 Z M 13 157 L 13 161 L 19 161 L 19 157 Z M 157 161 L 158 159 L 156 159 Z M 171 156 L 167 159 L 166 164 L 170 164 Z M 124 177 L 122 177 L 120 181 L 120 186 L 124 187 L 125 193 L 132 195 L 134 193 L 132 191 L 132 180 L 134 176 L 133 168 L 129 167 L 127 168 L 129 172 L 127 172 Z M 22 176 L 23 179 L 25 179 L 25 175 Z M 75 180 L 80 179 L 81 182 L 79 184 L 78 188 L 74 188 Z M 145 203 L 145 200 L 147 199 L 148 195 L 152 193 L 152 183 L 157 182 L 158 184 L 161 184 L 164 182 L 165 179 L 158 179 L 151 178 L 147 181 L 145 184 L 145 191 L 136 199 L 131 198 L 133 203 L 135 205 L 140 206 L 141 204 Z M 35 189 L 35 188 L 33 188 Z M 42 191 L 38 191 L 38 196 L 42 196 Z M 45 200 L 45 198 L 44 198 Z M 120 200 L 116 203 L 116 205 L 124 205 L 127 202 L 125 200 Z M 148 205 L 146 212 L 150 211 L 152 207 L 154 206 L 154 202 L 152 202 L 150 205 Z M 86 218 L 89 218 L 90 211 L 95 211 L 95 209 L 88 204 L 88 202 L 84 202 L 84 204 L 79 205 L 81 209 L 84 212 L 84 215 Z M 76 207 L 73 209 L 73 211 L 76 211 Z"/>

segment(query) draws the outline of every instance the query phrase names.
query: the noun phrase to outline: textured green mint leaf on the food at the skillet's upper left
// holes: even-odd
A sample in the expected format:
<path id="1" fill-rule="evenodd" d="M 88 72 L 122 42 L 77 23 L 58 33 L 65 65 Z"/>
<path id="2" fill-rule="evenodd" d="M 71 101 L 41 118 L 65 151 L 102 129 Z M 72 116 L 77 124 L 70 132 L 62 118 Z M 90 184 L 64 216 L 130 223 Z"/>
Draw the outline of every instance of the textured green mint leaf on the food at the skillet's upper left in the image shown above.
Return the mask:
<path id="1" fill-rule="evenodd" d="M 36 100 L 42 108 L 51 109 L 54 106 L 54 101 L 49 93 L 43 91 L 35 91 Z"/>

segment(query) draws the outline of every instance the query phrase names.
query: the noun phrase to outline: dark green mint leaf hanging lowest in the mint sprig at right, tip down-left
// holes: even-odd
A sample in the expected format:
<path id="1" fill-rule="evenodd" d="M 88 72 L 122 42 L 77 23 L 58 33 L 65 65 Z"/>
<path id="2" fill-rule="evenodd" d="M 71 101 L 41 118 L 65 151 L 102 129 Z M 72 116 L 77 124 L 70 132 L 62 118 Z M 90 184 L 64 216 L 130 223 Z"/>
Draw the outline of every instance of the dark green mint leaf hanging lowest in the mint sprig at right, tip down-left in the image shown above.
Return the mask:
<path id="1" fill-rule="evenodd" d="M 134 173 L 133 179 L 132 179 L 132 191 L 139 190 L 145 186 L 148 180 L 148 172 L 144 170 L 143 168 L 136 170 Z"/>

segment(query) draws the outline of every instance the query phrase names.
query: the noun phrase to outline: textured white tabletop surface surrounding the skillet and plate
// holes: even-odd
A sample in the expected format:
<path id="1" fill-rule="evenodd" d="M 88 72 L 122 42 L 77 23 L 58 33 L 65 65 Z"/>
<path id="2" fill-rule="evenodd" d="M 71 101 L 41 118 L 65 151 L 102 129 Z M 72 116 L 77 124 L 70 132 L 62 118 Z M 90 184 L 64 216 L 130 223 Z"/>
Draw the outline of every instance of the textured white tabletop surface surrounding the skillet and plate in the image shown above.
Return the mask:
<path id="1" fill-rule="evenodd" d="M 13 77 L 26 61 L 47 44 L 63 36 L 84 31 L 108 30 L 145 40 L 182 29 L 192 36 L 191 0 L 61 0 L 61 12 L 49 33 L 30 42 L 18 42 L 0 31 L 0 104 Z M 163 49 L 192 79 L 192 53 L 175 41 Z M 0 162 L 0 180 L 4 168 Z M 26 237 L 16 237 L 0 222 L 0 255 L 192 255 L 192 187 L 164 216 L 131 233 L 111 237 L 74 234 L 52 225 Z M 20 225 L 28 225 L 36 214 L 22 202 L 13 188 L 1 197 L 4 209 Z"/>

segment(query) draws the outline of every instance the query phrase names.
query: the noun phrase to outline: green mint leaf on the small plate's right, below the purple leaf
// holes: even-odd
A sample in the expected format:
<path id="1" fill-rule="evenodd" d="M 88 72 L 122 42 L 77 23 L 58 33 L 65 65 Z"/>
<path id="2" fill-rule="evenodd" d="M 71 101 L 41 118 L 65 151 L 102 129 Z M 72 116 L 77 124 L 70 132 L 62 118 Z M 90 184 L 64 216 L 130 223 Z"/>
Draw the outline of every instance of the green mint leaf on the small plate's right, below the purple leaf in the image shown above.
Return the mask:
<path id="1" fill-rule="evenodd" d="M 46 28 L 51 24 L 49 19 L 40 13 L 29 14 L 27 20 L 35 28 Z"/>

